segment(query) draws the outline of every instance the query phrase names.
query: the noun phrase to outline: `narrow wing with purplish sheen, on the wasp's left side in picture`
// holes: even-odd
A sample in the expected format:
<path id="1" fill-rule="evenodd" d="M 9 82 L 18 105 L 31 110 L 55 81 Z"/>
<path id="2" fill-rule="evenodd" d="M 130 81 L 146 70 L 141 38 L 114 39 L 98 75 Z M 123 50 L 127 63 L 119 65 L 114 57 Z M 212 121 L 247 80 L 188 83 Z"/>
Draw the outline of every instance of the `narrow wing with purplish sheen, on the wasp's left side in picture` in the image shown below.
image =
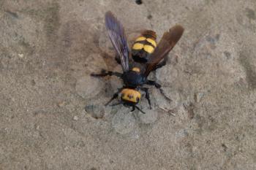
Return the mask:
<path id="1" fill-rule="evenodd" d="M 123 71 L 127 72 L 129 70 L 129 47 L 124 34 L 124 27 L 110 11 L 105 14 L 105 26 L 112 45 L 116 49 L 116 53 L 121 61 Z"/>

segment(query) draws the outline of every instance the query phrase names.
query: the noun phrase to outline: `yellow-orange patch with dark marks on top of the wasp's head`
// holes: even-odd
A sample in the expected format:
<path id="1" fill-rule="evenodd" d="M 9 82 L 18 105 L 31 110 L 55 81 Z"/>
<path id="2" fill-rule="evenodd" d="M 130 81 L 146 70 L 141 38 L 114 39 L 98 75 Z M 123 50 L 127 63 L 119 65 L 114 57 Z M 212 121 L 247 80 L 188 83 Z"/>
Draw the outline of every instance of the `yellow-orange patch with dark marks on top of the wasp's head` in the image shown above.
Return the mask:
<path id="1" fill-rule="evenodd" d="M 140 101 L 140 92 L 130 88 L 124 88 L 121 90 L 121 99 L 124 101 L 131 101 L 132 103 L 138 103 Z"/>

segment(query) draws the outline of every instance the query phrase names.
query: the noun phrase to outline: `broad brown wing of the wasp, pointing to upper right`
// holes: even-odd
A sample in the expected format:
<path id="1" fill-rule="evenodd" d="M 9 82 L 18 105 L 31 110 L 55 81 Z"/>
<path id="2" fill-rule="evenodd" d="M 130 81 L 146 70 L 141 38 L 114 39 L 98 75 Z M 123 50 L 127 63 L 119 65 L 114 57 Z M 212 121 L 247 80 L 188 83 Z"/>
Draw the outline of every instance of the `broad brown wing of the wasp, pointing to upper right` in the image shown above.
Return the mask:
<path id="1" fill-rule="evenodd" d="M 162 61 L 163 58 L 173 49 L 178 40 L 181 38 L 184 32 L 184 28 L 182 26 L 173 26 L 169 31 L 165 32 L 157 45 L 154 52 L 149 56 L 148 63 L 146 64 L 145 76 L 155 69 L 157 63 Z"/>

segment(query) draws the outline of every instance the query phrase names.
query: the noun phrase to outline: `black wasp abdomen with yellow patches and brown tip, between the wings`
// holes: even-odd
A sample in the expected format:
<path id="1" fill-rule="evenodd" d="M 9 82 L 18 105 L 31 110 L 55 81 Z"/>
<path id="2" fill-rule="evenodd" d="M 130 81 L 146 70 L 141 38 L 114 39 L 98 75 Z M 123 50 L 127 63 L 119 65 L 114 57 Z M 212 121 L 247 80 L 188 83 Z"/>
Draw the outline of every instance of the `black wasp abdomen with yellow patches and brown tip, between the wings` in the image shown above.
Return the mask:
<path id="1" fill-rule="evenodd" d="M 154 52 L 157 47 L 157 34 L 154 31 L 144 31 L 132 45 L 132 58 L 136 62 L 146 63 L 148 56 Z"/>

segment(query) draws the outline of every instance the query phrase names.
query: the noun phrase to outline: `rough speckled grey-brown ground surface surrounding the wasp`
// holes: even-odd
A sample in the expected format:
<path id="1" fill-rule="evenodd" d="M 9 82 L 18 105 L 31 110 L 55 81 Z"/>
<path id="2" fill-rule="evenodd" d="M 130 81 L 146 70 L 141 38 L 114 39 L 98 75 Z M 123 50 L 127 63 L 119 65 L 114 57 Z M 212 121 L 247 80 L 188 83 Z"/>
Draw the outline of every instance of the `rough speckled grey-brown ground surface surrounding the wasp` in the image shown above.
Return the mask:
<path id="1" fill-rule="evenodd" d="M 121 85 L 89 77 L 120 70 L 107 10 L 129 42 L 184 26 L 151 75 L 171 103 L 103 107 Z M 0 0 L 0 169 L 256 169 L 255 30 L 255 0 Z"/>

